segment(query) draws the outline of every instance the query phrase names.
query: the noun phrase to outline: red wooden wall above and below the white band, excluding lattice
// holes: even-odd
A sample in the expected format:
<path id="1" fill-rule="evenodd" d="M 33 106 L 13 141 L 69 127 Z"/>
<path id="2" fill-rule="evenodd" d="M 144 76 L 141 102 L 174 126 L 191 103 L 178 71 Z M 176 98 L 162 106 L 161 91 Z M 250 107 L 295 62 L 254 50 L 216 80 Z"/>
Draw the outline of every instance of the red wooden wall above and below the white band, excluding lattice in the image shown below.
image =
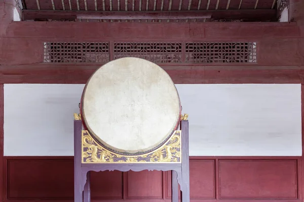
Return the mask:
<path id="1" fill-rule="evenodd" d="M 0 12 L 3 8 L 0 1 Z M 303 83 L 304 26 L 299 23 L 9 23 L 6 18 L 0 15 L 0 28 L 5 28 L 0 30 L 0 197 L 4 201 L 73 198 L 72 157 L 3 157 L 3 83 L 85 83 L 100 66 L 42 63 L 44 41 L 254 40 L 258 42 L 257 64 L 161 66 L 175 83 Z M 191 157 L 191 199 L 302 201 L 302 160 Z M 170 200 L 169 172 L 99 172 L 91 179 L 95 200 Z"/>

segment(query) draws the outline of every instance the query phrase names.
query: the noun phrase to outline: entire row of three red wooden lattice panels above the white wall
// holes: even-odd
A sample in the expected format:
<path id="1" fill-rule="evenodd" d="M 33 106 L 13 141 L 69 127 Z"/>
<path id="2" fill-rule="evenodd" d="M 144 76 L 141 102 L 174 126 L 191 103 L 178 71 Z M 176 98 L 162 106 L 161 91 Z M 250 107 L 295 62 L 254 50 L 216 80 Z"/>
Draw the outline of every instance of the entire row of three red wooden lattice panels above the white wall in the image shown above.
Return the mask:
<path id="1" fill-rule="evenodd" d="M 137 57 L 154 63 L 255 63 L 255 42 L 45 42 L 44 62 L 107 63 Z M 111 57 L 110 57 L 111 56 Z"/>

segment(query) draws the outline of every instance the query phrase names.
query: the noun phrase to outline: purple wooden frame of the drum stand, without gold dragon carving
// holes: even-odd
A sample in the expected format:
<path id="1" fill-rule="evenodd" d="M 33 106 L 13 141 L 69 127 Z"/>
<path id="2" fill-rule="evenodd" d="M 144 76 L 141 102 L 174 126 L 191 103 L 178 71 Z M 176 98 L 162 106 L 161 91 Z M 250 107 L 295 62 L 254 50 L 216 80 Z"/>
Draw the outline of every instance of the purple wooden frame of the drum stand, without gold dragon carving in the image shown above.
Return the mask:
<path id="1" fill-rule="evenodd" d="M 178 202 L 178 184 L 181 190 L 181 201 L 190 201 L 189 190 L 189 123 L 187 120 L 180 121 L 181 130 L 181 156 L 180 163 L 82 163 L 82 130 L 81 120 L 74 120 L 74 201 L 90 202 L 90 171 L 143 171 L 158 170 L 171 171 L 172 201 Z"/>

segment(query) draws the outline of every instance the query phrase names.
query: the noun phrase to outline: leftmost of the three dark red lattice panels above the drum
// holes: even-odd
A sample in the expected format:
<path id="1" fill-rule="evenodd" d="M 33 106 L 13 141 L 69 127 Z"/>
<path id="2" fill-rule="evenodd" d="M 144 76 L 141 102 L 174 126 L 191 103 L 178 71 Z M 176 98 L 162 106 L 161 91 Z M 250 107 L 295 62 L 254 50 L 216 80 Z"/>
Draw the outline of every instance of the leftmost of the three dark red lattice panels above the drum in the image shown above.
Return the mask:
<path id="1" fill-rule="evenodd" d="M 108 42 L 45 42 L 46 63 L 107 63 Z"/>

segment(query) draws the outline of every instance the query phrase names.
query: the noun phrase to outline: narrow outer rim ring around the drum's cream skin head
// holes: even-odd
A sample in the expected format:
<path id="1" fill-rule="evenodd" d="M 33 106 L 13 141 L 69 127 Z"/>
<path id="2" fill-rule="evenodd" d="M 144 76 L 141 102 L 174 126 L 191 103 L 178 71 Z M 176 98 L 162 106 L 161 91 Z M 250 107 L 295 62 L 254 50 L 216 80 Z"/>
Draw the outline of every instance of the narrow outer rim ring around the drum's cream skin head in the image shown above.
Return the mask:
<path id="1" fill-rule="evenodd" d="M 145 59 L 141 59 L 141 58 L 136 58 L 136 57 L 124 57 L 124 58 L 119 58 L 119 59 L 116 59 L 116 60 L 112 60 L 112 61 L 109 61 L 108 63 L 111 63 L 111 62 L 114 62 L 114 61 L 118 61 L 118 60 L 121 60 L 121 59 L 125 59 L 125 58 L 135 58 L 135 59 L 139 59 L 139 60 L 144 60 L 144 61 L 147 61 L 149 63 L 152 63 L 154 65 L 157 65 L 153 62 L 150 62 L 148 60 L 145 60 Z M 108 63 L 105 63 L 104 65 L 108 64 Z M 174 131 L 179 127 L 179 121 L 180 121 L 180 115 L 181 115 L 181 102 L 180 102 L 180 97 L 179 97 L 179 94 L 178 94 L 178 91 L 177 91 L 177 88 L 173 82 L 173 80 L 171 79 L 170 75 L 163 69 L 161 68 L 159 65 L 157 65 L 158 67 L 160 67 L 161 71 L 163 71 L 165 74 L 167 74 L 167 76 L 170 78 L 170 81 L 171 83 L 174 85 L 174 88 L 175 88 L 175 92 L 177 93 L 177 97 L 178 97 L 178 105 L 179 105 L 179 111 L 178 111 L 178 116 L 177 116 L 177 119 L 175 121 L 175 125 L 174 127 L 172 127 L 172 130 L 171 132 L 168 133 L 167 137 L 163 139 L 162 142 L 160 143 L 157 143 L 155 145 L 152 145 L 152 146 L 149 146 L 148 148 L 144 148 L 144 149 L 138 149 L 138 150 L 124 150 L 124 149 L 119 149 L 115 146 L 112 146 L 112 145 L 109 145 L 107 144 L 106 142 L 104 142 L 100 137 L 98 137 L 98 135 L 96 135 L 93 130 L 89 127 L 89 124 L 87 123 L 87 120 L 86 120 L 86 116 L 85 116 L 85 113 L 84 113 L 84 96 L 85 96 L 85 93 L 86 93 L 86 89 L 87 89 L 87 86 L 88 86 L 88 83 L 90 82 L 91 78 L 94 76 L 94 74 L 99 70 L 101 69 L 104 65 L 100 66 L 99 68 L 97 68 L 97 70 L 95 70 L 92 75 L 89 77 L 89 79 L 87 80 L 86 84 L 85 84 L 85 87 L 83 89 L 83 93 L 82 93 L 82 96 L 81 96 L 81 102 L 80 102 L 80 114 L 82 116 L 82 122 L 83 122 L 83 126 L 86 130 L 88 130 L 88 132 L 90 133 L 90 135 L 92 136 L 92 138 L 97 141 L 99 144 L 101 144 L 103 147 L 105 147 L 106 149 L 108 149 L 109 151 L 112 151 L 113 153 L 116 153 L 116 154 L 119 154 L 119 155 L 125 155 L 125 156 L 138 156 L 138 155 L 144 155 L 144 154 L 147 154 L 147 153 L 150 153 L 151 151 L 154 151 L 158 148 L 160 148 L 164 143 L 166 143 L 170 138 L 171 136 L 173 135 Z M 153 126 L 151 126 L 153 127 Z"/>

